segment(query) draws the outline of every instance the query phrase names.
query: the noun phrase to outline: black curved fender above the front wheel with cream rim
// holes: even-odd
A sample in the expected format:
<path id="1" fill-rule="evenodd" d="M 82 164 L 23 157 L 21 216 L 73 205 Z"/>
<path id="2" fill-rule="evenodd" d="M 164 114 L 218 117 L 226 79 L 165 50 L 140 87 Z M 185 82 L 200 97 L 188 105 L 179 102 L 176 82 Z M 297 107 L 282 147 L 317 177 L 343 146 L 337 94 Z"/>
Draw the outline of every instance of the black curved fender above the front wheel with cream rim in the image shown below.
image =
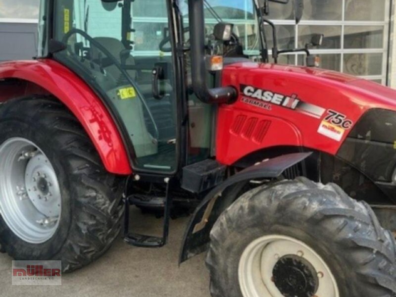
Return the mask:
<path id="1" fill-rule="evenodd" d="M 240 171 L 210 191 L 198 205 L 186 229 L 179 264 L 206 250 L 210 242 L 210 230 L 217 218 L 238 198 L 248 181 L 280 177 L 286 169 L 311 154 L 312 152 L 291 153 L 263 161 Z"/>

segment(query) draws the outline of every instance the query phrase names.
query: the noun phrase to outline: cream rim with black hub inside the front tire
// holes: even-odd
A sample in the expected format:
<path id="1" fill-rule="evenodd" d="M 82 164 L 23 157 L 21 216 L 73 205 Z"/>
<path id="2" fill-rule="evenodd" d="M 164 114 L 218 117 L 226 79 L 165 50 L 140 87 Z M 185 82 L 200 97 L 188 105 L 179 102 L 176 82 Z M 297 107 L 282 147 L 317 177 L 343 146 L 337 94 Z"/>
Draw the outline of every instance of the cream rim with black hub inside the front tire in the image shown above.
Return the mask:
<path id="1" fill-rule="evenodd" d="M 269 235 L 251 242 L 242 253 L 238 278 L 244 297 L 340 297 L 322 257 L 287 236 Z"/>

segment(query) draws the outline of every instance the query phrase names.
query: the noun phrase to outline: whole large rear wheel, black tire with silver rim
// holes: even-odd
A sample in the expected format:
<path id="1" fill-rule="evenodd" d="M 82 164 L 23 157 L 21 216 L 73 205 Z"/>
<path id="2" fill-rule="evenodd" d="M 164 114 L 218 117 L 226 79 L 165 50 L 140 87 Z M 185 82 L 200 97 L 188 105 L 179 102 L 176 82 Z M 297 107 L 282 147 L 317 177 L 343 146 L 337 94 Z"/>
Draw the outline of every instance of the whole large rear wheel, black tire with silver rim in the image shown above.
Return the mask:
<path id="1" fill-rule="evenodd" d="M 81 124 L 56 99 L 0 105 L 0 167 L 7 171 L 0 246 L 11 257 L 61 260 L 72 271 L 119 234 L 124 179 L 106 172 Z"/>

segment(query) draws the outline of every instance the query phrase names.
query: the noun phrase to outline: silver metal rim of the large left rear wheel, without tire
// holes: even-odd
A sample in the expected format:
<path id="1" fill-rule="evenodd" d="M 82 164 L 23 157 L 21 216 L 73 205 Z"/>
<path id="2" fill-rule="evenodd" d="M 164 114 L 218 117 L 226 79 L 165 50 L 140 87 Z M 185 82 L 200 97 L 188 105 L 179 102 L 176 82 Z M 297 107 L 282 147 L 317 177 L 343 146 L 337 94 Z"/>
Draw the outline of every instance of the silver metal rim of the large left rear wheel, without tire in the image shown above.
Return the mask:
<path id="1" fill-rule="evenodd" d="M 20 239 L 42 244 L 56 232 L 61 194 L 48 157 L 33 142 L 10 138 L 0 146 L 0 212 Z"/>

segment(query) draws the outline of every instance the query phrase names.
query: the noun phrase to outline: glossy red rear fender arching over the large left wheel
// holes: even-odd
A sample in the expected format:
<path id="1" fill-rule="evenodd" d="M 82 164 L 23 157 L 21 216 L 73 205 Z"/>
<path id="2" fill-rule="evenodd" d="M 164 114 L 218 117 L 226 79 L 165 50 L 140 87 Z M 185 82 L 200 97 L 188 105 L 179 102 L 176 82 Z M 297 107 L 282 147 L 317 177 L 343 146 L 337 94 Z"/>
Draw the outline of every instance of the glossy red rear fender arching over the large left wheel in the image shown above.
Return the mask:
<path id="1" fill-rule="evenodd" d="M 51 59 L 12 61 L 0 63 L 0 80 L 7 79 L 33 83 L 63 102 L 84 127 L 106 170 L 119 175 L 132 173 L 116 122 L 101 99 L 75 73 Z M 7 94 L 6 90 L 0 93 Z M 15 97 L 12 92 L 8 94 L 1 101 Z M 34 94 L 25 92 L 24 96 L 28 95 Z"/>

